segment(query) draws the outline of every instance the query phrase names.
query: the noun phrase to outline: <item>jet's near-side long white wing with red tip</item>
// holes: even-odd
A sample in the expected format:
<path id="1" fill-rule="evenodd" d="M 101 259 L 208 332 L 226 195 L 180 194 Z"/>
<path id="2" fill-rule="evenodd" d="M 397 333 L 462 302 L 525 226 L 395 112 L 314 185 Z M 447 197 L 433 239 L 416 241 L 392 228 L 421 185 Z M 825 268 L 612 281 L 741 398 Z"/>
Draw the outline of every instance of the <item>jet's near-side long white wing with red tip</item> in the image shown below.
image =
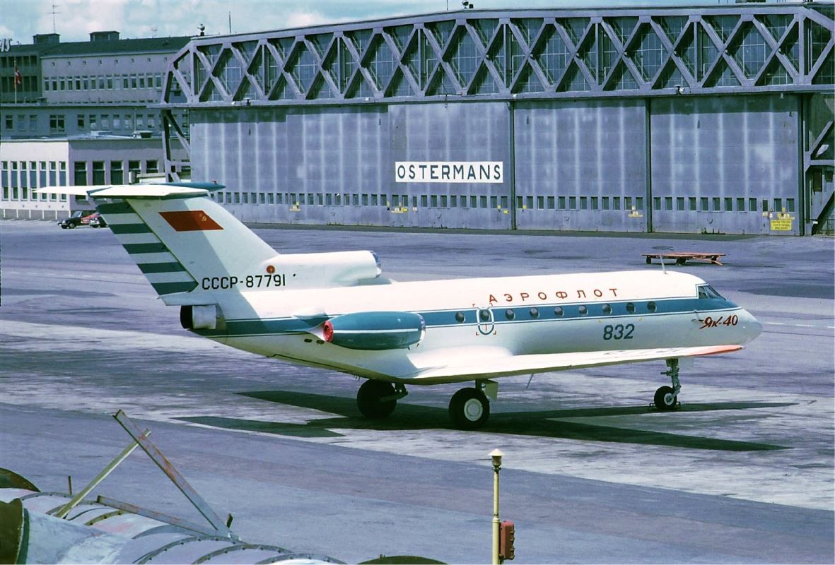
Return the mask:
<path id="1" fill-rule="evenodd" d="M 426 381 L 426 384 L 473 381 L 498 376 L 531 375 L 620 363 L 717 355 L 741 349 L 742 346 L 731 345 L 514 356 L 510 351 L 500 347 L 473 348 L 471 351 L 465 348 L 449 348 L 442 355 L 438 355 L 440 352 L 436 353 L 431 360 L 412 360 L 422 365 L 427 362 L 433 363 L 433 366 L 424 365 L 425 368 L 418 371 L 412 378 L 416 381 Z"/>

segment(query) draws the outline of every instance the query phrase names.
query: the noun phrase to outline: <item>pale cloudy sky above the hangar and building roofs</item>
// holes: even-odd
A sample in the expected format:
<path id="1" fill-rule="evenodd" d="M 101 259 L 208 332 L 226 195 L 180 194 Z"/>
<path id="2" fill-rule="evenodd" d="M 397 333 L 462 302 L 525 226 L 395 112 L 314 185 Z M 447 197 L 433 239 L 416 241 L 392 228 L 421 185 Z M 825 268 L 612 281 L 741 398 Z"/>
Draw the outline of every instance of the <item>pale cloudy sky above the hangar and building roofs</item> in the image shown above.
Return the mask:
<path id="1" fill-rule="evenodd" d="M 646 6 L 652 0 L 472 0 L 475 8 L 585 8 Z M 731 3 L 732 0 L 662 0 L 657 5 Z M 54 7 L 54 8 L 53 8 Z M 62 42 L 88 41 L 94 31 L 121 38 L 252 33 L 392 18 L 461 8 L 461 0 L 0 0 L 0 38 L 32 43 L 36 33 Z M 55 12 L 53 14 L 53 11 Z M 53 28 L 54 25 L 54 28 Z"/>

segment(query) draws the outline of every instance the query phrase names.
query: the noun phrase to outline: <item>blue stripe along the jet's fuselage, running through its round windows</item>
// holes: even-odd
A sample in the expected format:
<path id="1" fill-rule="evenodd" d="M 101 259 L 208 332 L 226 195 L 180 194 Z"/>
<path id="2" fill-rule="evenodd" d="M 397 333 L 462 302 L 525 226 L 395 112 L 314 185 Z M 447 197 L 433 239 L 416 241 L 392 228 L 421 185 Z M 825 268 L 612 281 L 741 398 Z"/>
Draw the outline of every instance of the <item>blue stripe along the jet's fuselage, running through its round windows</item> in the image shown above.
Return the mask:
<path id="1" fill-rule="evenodd" d="M 655 301 L 655 312 L 646 310 L 647 302 Z M 626 305 L 632 303 L 635 305 L 635 313 L 626 311 Z M 711 312 L 721 310 L 736 310 L 739 306 L 729 302 L 728 300 L 700 300 L 700 299 L 658 299 L 658 300 L 624 300 L 623 302 L 607 302 L 612 308 L 611 314 L 603 313 L 603 304 L 587 304 L 588 309 L 586 315 L 579 313 L 579 304 L 569 305 L 526 305 L 515 306 L 513 308 L 493 307 L 493 321 L 497 325 L 514 324 L 520 322 L 532 321 L 554 321 L 554 320 L 595 320 L 595 319 L 617 319 L 622 317 L 650 317 L 658 315 L 671 314 L 687 314 L 698 310 L 700 314 L 709 315 Z M 559 306 L 562 308 L 563 315 L 557 315 L 555 308 Z M 538 315 L 533 316 L 530 313 L 531 308 L 538 310 Z M 508 320 L 506 317 L 506 310 L 514 311 L 514 319 Z M 459 322 L 455 316 L 461 312 L 464 315 L 464 321 Z M 468 310 L 435 310 L 428 312 L 417 312 L 423 316 L 426 321 L 426 327 L 443 327 L 443 326 L 467 326 L 475 325 L 477 310 L 470 308 Z M 281 335 L 281 334 L 298 334 L 304 333 L 311 328 L 320 325 L 331 316 L 319 316 L 312 319 L 301 320 L 299 318 L 274 318 L 265 320 L 226 320 L 225 330 L 196 330 L 195 333 L 210 337 L 212 335 Z M 491 323 L 491 322 L 482 322 Z"/>

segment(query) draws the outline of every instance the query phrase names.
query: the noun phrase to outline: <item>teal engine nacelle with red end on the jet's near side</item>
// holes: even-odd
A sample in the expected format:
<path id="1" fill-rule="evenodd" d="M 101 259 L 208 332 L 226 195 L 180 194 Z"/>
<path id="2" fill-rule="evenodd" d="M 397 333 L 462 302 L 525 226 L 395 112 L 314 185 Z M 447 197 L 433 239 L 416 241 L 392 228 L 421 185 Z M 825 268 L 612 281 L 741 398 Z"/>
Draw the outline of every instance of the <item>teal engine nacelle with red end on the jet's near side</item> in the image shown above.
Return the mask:
<path id="1" fill-rule="evenodd" d="M 365 351 L 405 349 L 423 340 L 426 322 L 414 312 L 357 312 L 325 322 L 322 334 L 335 346 Z"/>

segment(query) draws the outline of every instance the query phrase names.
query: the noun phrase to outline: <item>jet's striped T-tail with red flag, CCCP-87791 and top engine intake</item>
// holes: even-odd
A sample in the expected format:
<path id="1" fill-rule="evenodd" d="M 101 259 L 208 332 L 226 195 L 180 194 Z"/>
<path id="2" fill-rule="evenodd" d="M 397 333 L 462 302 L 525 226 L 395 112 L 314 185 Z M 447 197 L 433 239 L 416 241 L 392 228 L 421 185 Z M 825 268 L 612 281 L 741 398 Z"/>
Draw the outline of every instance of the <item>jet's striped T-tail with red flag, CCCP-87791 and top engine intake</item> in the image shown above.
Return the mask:
<path id="1" fill-rule="evenodd" d="M 220 290 L 383 284 L 377 255 L 339 251 L 279 255 L 214 200 L 211 183 L 46 187 L 87 196 L 169 305 L 202 305 Z M 207 302 L 208 300 L 209 302 Z"/>

